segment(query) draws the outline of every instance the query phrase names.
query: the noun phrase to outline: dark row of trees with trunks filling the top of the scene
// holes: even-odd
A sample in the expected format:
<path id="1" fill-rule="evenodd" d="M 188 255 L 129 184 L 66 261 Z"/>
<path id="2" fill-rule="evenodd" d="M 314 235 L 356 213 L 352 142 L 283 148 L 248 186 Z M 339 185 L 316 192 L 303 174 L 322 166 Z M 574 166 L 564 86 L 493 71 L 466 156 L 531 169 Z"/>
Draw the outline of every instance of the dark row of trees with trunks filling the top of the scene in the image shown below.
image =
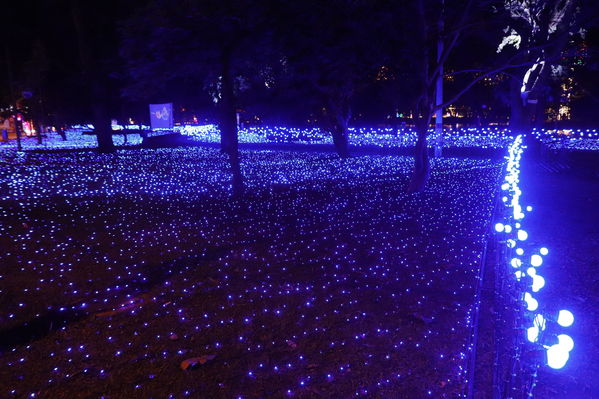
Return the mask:
<path id="1" fill-rule="evenodd" d="M 318 125 L 342 157 L 348 126 L 407 121 L 417 191 L 441 107 L 517 129 L 560 112 L 598 121 L 596 11 L 590 0 L 26 0 L 5 14 L 0 104 L 26 103 L 49 125 L 93 121 L 110 152 L 112 118 L 146 122 L 148 103 L 174 102 L 181 119 L 219 123 L 234 174 L 238 110 Z"/>

